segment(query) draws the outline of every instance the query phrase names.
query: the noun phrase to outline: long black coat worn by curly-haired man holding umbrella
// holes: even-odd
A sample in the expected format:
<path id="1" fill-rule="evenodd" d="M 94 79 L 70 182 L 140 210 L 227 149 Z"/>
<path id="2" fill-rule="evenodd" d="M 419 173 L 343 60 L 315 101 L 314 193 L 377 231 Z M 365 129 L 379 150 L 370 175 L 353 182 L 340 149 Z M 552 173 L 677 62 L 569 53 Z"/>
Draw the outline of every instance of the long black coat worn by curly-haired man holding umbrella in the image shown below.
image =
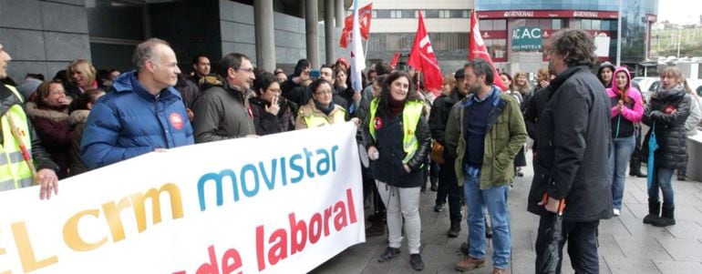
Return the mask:
<path id="1" fill-rule="evenodd" d="M 587 66 L 573 66 L 551 82 L 547 104 L 539 116 L 539 153 L 527 209 L 547 192 L 565 198 L 563 218 L 594 221 L 611 218 L 612 187 L 607 178 L 610 107 L 604 86 Z"/>

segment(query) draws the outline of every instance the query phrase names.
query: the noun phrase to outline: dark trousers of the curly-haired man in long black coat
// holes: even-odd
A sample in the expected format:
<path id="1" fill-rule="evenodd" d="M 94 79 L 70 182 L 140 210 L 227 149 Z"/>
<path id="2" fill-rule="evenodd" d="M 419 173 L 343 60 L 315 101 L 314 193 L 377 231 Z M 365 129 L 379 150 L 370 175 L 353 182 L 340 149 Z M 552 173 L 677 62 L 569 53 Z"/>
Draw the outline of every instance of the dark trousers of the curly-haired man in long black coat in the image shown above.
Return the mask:
<path id="1" fill-rule="evenodd" d="M 539 221 L 539 235 L 536 237 L 536 266 L 542 264 L 544 252 L 548 246 L 546 229 L 552 225 L 554 214 L 546 214 Z M 600 264 L 597 257 L 597 227 L 600 220 L 590 222 L 563 221 L 563 240 L 558 244 L 558 268 L 556 273 L 561 273 L 563 263 L 563 246 L 568 241 L 568 255 L 571 257 L 571 266 L 575 273 L 599 273 Z"/>

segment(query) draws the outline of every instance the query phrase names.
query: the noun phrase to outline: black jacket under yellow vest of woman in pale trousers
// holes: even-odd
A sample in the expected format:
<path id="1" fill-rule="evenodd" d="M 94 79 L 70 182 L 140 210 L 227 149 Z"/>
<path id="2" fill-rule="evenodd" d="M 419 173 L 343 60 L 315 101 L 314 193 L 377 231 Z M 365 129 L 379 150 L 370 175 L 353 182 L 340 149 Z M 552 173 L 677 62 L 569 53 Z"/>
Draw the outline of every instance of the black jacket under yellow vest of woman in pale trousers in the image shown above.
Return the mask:
<path id="1" fill-rule="evenodd" d="M 402 148 L 402 114 L 400 113 L 392 119 L 387 119 L 387 116 L 381 116 L 379 113 L 376 115 L 383 120 L 383 123 L 380 124 L 382 126 L 376 129 L 377 139 L 370 137 L 368 123 L 372 123 L 371 117 L 366 117 L 363 123 L 364 145 L 376 147 L 379 152 L 379 158 L 370 162 L 373 177 L 397 188 L 418 188 L 425 182 L 420 167 L 427 159 L 431 146 L 427 118 L 424 115 L 419 117 L 415 132 L 418 149 L 407 163 L 408 167 L 412 169 L 412 172 L 408 173 L 402 163 L 402 159 L 406 156 Z"/>

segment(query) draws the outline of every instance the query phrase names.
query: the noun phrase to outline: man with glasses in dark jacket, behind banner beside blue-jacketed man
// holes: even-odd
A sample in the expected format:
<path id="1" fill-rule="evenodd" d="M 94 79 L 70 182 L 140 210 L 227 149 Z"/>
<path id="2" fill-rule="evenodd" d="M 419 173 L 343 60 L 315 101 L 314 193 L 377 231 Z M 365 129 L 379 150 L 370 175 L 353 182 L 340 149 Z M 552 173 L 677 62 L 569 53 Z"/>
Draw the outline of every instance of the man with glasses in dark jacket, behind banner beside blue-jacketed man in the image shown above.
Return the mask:
<path id="1" fill-rule="evenodd" d="M 252 112 L 245 95 L 253 80 L 248 56 L 232 53 L 220 61 L 222 83 L 205 89 L 193 107 L 195 142 L 255 136 Z"/>

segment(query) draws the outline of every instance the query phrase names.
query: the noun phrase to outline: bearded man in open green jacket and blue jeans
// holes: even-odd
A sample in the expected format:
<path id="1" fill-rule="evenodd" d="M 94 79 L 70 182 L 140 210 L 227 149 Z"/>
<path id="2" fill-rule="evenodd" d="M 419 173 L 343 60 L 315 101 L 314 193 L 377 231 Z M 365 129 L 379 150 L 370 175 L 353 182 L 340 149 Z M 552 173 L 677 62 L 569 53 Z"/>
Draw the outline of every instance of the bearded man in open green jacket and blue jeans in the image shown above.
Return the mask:
<path id="1" fill-rule="evenodd" d="M 510 266 L 510 212 L 507 196 L 514 178 L 514 157 L 526 142 L 526 127 L 514 96 L 492 85 L 495 69 L 483 59 L 463 67 L 470 96 L 449 113 L 444 136 L 455 158 L 456 177 L 468 205 L 468 255 L 455 268 L 477 269 L 485 264 L 485 213 L 492 219 L 492 273 Z"/>

